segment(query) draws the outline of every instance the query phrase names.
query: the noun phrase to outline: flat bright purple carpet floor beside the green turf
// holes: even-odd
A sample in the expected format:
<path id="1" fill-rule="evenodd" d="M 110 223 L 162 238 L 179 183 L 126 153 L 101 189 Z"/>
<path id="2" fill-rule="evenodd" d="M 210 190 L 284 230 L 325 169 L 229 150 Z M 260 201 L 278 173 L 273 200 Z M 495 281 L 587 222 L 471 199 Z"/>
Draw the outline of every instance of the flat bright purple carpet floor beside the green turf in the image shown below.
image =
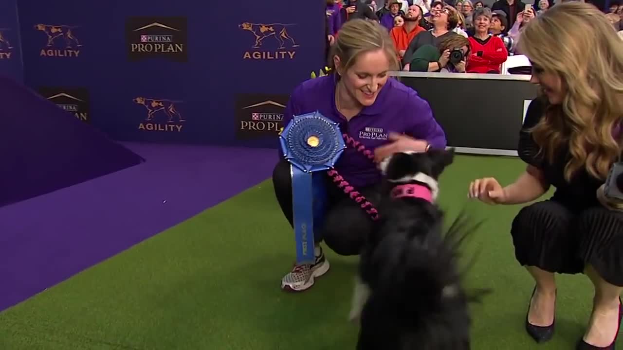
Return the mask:
<path id="1" fill-rule="evenodd" d="M 0 311 L 259 184 L 277 161 L 275 149 L 124 144 L 145 163 L 0 208 Z"/>

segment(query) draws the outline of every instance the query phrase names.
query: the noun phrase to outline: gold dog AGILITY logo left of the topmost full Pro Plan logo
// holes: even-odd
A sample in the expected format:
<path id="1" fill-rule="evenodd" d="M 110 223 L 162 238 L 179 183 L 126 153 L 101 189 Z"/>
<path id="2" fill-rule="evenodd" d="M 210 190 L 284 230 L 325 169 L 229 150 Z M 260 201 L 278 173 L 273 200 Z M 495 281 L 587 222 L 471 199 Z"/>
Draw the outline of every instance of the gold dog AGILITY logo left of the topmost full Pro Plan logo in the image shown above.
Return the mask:
<path id="1" fill-rule="evenodd" d="M 36 24 L 35 29 L 44 35 L 44 47 L 39 51 L 42 57 L 79 57 L 82 43 L 76 31 L 79 26 Z"/>

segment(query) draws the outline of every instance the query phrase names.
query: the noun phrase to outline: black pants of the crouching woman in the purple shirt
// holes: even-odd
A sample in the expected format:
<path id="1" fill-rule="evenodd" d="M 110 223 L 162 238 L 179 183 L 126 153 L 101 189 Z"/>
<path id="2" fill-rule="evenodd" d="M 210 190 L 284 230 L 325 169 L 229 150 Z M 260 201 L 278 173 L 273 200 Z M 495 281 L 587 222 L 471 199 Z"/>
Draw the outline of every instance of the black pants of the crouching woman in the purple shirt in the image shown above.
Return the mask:
<path id="1" fill-rule="evenodd" d="M 275 196 L 283 215 L 293 226 L 292 210 L 292 178 L 290 177 L 290 163 L 282 159 L 273 170 L 273 186 Z M 325 244 L 340 255 L 358 255 L 364 239 L 371 233 L 373 220 L 359 204 L 346 196 L 336 184 L 326 176 L 328 208 L 325 215 L 325 224 L 314 232 L 316 243 Z M 379 202 L 379 187 L 370 186 L 358 188 L 363 196 L 373 205 Z M 293 235 L 293 231 L 290 231 Z"/>

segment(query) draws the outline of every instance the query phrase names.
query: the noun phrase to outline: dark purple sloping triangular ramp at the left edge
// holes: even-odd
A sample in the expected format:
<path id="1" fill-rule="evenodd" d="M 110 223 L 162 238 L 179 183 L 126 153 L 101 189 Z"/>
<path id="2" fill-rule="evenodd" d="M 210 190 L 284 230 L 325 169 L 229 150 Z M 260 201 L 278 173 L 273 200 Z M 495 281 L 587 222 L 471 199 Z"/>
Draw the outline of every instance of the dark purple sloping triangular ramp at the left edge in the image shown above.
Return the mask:
<path id="1" fill-rule="evenodd" d="M 143 161 L 10 78 L 0 92 L 0 207 Z"/>

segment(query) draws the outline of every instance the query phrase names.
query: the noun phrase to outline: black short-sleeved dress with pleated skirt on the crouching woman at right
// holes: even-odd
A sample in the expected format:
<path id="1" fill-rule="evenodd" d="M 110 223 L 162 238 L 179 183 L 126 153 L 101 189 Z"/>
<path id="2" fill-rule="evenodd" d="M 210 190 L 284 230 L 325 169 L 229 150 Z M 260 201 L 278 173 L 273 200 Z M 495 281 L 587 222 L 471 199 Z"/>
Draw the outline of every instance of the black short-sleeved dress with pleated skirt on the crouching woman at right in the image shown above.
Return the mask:
<path id="1" fill-rule="evenodd" d="M 543 116 L 544 105 L 533 100 L 520 131 L 518 154 L 541 169 L 556 191 L 554 196 L 520 210 L 511 226 L 515 257 L 521 265 L 548 272 L 582 273 L 587 264 L 607 282 L 623 286 L 623 212 L 599 204 L 596 191 L 604 181 L 586 171 L 571 182 L 564 179 L 570 154 L 561 151 L 554 164 L 543 160 L 527 130 Z"/>

